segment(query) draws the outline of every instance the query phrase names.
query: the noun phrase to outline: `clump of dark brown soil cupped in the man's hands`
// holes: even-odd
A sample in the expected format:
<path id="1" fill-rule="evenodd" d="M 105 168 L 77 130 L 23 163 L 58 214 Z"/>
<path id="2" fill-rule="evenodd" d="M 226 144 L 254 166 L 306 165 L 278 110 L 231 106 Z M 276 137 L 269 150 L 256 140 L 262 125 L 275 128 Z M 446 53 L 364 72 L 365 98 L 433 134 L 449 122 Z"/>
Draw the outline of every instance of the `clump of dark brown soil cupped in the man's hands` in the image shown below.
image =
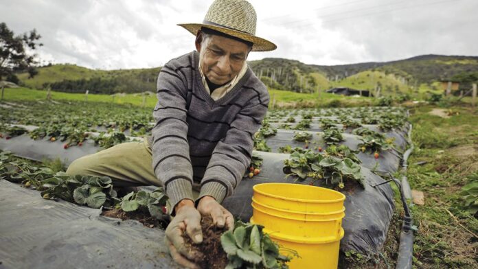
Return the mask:
<path id="1" fill-rule="evenodd" d="M 203 230 L 203 242 L 194 244 L 186 233 L 183 233 L 186 246 L 196 250 L 203 255 L 198 255 L 194 263 L 203 269 L 223 269 L 227 266 L 227 255 L 220 244 L 220 236 L 227 229 L 218 228 L 212 222 L 212 218 L 205 217 L 201 220 L 201 229 Z M 199 257 L 201 256 L 201 257 Z"/>

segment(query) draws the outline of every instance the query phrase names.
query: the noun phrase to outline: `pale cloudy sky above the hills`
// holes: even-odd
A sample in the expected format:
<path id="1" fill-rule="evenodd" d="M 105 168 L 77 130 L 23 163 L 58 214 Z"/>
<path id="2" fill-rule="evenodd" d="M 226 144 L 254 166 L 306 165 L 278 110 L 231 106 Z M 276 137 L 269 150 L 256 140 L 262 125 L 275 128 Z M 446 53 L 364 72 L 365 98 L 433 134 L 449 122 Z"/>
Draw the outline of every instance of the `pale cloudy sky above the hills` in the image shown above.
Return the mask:
<path id="1" fill-rule="evenodd" d="M 256 36 L 277 45 L 248 60 L 312 65 L 386 62 L 423 54 L 478 56 L 477 0 L 249 0 Z M 36 29 L 42 64 L 160 67 L 195 49 L 177 23 L 201 23 L 207 0 L 0 0 L 0 22 Z"/>

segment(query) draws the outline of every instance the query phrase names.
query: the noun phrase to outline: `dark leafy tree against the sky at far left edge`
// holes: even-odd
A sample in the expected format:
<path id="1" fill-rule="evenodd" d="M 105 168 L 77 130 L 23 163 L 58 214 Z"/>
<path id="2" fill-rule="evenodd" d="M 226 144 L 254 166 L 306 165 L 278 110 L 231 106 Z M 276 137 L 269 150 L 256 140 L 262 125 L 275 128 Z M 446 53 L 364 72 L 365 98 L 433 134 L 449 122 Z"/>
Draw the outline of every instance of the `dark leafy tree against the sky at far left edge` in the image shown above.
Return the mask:
<path id="1" fill-rule="evenodd" d="M 34 50 L 37 46 L 43 46 L 37 42 L 40 38 L 35 29 L 14 36 L 6 23 L 0 23 L 0 80 L 14 78 L 16 72 L 27 71 L 30 78 L 38 73 L 34 67 L 35 55 L 27 53 L 27 49 Z"/>

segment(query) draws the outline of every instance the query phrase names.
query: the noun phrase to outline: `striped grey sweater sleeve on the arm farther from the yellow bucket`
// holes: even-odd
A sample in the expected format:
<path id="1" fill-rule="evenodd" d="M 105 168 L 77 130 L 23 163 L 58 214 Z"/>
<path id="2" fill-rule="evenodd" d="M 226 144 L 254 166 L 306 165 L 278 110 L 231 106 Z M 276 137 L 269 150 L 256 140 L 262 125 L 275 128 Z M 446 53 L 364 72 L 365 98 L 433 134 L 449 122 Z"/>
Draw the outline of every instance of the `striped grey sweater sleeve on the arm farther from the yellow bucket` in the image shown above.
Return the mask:
<path id="1" fill-rule="evenodd" d="M 169 63 L 168 63 L 169 64 Z M 152 115 L 152 168 L 170 199 L 172 213 L 183 199 L 192 196 L 192 165 L 187 143 L 187 83 L 181 72 L 165 65 L 158 76 L 157 104 Z"/>

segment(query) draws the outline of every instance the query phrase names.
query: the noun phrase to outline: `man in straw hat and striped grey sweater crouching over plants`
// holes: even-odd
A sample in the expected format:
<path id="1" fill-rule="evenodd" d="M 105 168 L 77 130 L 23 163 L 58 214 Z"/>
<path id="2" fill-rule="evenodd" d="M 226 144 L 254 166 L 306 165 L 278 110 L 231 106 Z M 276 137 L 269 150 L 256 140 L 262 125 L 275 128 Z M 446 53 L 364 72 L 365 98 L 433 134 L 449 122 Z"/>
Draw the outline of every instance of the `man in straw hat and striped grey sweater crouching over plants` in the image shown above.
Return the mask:
<path id="1" fill-rule="evenodd" d="M 183 231 L 201 243 L 201 216 L 232 229 L 220 205 L 249 167 L 253 134 L 269 104 L 266 86 L 247 67 L 250 51 L 276 46 L 255 36 L 256 16 L 244 0 L 216 0 L 203 23 L 180 24 L 196 49 L 159 73 L 156 125 L 145 143 L 124 143 L 71 163 L 69 174 L 110 176 L 116 186 L 161 185 L 174 218 L 166 243 L 177 263 L 194 268 Z M 194 189 L 194 191 L 193 191 Z"/>

